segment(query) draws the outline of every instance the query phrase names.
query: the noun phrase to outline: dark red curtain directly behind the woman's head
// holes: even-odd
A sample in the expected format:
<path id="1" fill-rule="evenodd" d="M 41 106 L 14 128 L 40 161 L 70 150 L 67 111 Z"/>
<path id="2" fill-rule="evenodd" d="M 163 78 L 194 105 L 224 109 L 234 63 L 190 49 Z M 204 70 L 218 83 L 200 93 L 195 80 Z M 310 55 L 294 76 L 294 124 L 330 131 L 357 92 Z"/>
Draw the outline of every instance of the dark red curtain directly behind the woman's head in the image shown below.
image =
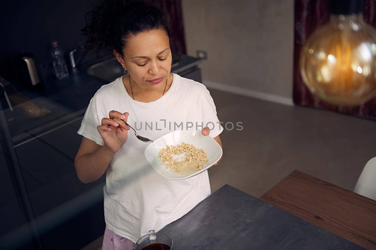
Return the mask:
<path id="1" fill-rule="evenodd" d="M 149 2 L 166 12 L 171 18 L 173 33 L 170 42 L 171 51 L 186 54 L 181 0 L 149 0 Z"/>

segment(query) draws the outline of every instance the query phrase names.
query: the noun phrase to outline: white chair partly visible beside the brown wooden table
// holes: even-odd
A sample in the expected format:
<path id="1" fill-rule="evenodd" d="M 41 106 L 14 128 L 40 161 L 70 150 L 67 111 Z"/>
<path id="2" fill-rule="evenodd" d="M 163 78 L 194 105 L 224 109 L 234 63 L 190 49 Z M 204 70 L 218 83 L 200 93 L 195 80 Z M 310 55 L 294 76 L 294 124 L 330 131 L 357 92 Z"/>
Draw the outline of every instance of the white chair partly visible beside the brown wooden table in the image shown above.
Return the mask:
<path id="1" fill-rule="evenodd" d="M 376 200 L 376 157 L 365 164 L 358 182 L 356 182 L 354 192 Z"/>

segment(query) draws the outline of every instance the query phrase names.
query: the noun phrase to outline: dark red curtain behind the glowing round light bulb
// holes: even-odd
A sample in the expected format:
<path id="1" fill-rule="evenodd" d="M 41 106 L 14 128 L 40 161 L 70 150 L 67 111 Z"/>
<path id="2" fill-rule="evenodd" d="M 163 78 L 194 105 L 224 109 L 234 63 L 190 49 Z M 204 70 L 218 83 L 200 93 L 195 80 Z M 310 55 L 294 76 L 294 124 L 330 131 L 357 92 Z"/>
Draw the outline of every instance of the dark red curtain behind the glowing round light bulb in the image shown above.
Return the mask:
<path id="1" fill-rule="evenodd" d="M 320 101 L 309 92 L 299 71 L 300 50 L 314 30 L 329 20 L 330 0 L 295 0 L 294 21 L 294 88 L 293 99 L 296 105 L 324 108 L 345 114 L 376 119 L 376 98 L 356 107 L 339 107 Z M 363 17 L 365 22 L 376 28 L 376 0 L 364 0 Z"/>

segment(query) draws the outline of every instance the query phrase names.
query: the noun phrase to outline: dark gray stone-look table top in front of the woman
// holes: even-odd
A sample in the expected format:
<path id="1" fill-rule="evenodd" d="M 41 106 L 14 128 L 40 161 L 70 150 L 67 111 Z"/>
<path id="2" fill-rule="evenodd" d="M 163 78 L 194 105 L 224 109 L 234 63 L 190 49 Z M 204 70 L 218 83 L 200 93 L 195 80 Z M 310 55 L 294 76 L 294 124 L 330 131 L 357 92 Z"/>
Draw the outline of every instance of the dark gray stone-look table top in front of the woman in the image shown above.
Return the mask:
<path id="1" fill-rule="evenodd" d="M 365 249 L 229 185 L 159 232 L 174 250 Z"/>

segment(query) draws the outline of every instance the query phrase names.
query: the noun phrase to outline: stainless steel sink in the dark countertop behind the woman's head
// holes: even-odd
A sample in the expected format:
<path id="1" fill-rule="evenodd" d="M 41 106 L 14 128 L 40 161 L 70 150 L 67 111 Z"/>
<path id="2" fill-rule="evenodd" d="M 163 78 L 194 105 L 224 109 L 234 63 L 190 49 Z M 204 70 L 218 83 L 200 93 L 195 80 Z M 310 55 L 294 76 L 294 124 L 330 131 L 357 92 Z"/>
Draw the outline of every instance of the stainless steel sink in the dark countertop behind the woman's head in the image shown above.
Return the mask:
<path id="1" fill-rule="evenodd" d="M 179 63 L 180 55 L 172 53 L 172 63 L 171 68 L 176 66 Z M 106 83 L 111 83 L 112 81 L 116 80 L 118 77 L 124 75 L 123 67 L 118 62 L 116 57 L 105 58 L 100 60 L 99 62 L 94 62 L 90 64 L 86 64 L 80 67 L 80 70 L 86 72 L 89 75 L 97 77 Z"/>

